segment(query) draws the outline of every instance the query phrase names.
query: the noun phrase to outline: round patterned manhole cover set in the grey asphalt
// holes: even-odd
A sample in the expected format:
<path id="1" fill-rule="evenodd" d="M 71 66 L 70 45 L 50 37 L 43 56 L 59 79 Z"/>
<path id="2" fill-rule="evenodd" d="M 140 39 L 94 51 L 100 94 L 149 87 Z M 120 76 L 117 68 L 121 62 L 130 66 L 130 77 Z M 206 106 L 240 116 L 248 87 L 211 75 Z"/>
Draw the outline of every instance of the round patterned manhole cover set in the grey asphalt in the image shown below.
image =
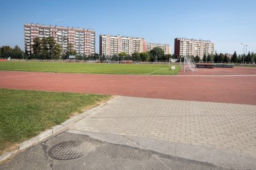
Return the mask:
<path id="1" fill-rule="evenodd" d="M 83 156 L 79 150 L 82 141 L 67 141 L 56 144 L 49 150 L 49 155 L 55 160 L 72 160 Z"/>

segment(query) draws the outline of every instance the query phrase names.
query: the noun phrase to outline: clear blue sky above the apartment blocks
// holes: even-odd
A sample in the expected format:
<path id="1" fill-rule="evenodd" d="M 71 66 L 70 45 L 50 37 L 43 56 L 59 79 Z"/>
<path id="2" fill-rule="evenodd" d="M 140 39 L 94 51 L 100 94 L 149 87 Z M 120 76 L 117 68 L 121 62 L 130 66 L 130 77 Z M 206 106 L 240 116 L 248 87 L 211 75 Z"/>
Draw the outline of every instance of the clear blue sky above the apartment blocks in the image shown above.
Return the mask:
<path id="1" fill-rule="evenodd" d="M 256 52 L 256 0 L 119 0 L 119 1 L 0 1 L 0 46 L 24 49 L 24 23 L 52 24 L 99 34 L 144 37 L 147 42 L 174 39 L 211 40 L 217 53 Z"/>

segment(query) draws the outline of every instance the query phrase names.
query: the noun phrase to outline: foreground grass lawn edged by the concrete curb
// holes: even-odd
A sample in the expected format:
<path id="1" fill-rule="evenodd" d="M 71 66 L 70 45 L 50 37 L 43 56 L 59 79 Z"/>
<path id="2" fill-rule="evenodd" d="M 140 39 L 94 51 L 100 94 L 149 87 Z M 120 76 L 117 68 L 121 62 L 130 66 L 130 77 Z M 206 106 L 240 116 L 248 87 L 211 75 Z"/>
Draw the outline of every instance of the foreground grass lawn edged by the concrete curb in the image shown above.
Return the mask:
<path id="1" fill-rule="evenodd" d="M 0 154 L 109 98 L 109 95 L 0 89 Z"/>

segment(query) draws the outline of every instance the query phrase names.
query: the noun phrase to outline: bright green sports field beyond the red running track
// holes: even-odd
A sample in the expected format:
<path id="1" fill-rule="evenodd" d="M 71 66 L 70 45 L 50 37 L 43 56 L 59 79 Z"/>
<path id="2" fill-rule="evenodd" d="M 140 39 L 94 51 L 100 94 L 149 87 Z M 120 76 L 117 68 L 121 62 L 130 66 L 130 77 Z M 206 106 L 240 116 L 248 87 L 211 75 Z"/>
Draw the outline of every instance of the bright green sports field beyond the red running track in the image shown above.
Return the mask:
<path id="1" fill-rule="evenodd" d="M 96 64 L 68 62 L 0 62 L 0 70 L 122 75 L 173 75 L 168 64 Z M 176 65 L 174 75 L 179 73 Z"/>

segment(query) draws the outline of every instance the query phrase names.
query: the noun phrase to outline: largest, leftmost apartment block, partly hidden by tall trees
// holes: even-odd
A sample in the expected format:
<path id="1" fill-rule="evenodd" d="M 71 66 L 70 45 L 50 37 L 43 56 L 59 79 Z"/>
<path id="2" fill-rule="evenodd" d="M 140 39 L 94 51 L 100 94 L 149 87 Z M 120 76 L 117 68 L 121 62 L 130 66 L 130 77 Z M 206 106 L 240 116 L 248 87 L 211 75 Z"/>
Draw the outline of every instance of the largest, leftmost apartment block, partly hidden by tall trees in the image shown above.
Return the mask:
<path id="1" fill-rule="evenodd" d="M 40 24 L 24 24 L 25 50 L 33 53 L 33 40 L 36 37 L 54 37 L 62 48 L 62 54 L 71 44 L 78 54 L 90 55 L 95 53 L 95 31 L 91 29 L 69 28 L 63 26 L 46 26 Z"/>

